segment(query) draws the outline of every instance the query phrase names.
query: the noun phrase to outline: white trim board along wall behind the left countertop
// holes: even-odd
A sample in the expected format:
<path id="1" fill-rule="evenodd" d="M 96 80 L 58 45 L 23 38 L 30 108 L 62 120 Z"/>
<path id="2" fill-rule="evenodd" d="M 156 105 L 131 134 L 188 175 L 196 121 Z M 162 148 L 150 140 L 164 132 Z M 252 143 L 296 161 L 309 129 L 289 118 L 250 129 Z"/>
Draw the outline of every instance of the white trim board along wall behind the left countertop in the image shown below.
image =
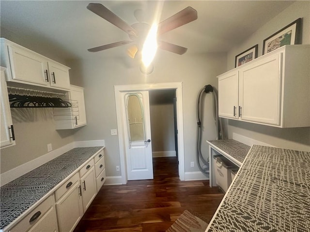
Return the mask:
<path id="1" fill-rule="evenodd" d="M 61 156 L 62 154 L 66 153 L 67 151 L 70 151 L 71 149 L 75 147 L 104 146 L 104 144 L 105 144 L 104 140 L 77 141 L 77 142 L 72 142 L 70 144 L 59 147 L 51 152 L 48 152 L 47 154 L 43 156 L 40 156 L 34 160 L 31 160 L 27 163 L 19 165 L 18 167 L 13 168 L 5 173 L 2 173 L 0 175 L 0 182 L 1 182 L 0 186 L 3 186 L 15 180 L 19 176 L 26 174 L 37 167 L 40 167 L 41 165 Z"/>

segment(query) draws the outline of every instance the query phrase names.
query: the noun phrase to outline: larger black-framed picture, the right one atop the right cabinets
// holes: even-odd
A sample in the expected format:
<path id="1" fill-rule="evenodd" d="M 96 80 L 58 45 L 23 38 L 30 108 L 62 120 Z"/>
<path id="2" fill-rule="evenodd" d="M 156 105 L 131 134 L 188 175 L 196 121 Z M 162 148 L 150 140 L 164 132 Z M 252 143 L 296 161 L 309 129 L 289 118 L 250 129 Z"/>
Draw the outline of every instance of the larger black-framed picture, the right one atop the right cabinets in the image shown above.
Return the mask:
<path id="1" fill-rule="evenodd" d="M 301 43 L 301 18 L 280 29 L 263 41 L 263 54 L 287 44 Z"/>

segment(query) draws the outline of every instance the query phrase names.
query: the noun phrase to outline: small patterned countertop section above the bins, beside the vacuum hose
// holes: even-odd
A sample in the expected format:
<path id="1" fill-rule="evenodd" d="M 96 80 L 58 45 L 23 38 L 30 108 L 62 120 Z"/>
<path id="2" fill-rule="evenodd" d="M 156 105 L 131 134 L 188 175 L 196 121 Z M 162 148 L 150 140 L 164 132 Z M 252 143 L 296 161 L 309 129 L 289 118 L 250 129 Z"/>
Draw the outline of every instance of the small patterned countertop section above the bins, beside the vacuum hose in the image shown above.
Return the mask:
<path id="1" fill-rule="evenodd" d="M 239 166 L 242 164 L 244 159 L 246 158 L 248 151 L 250 150 L 250 146 L 240 143 L 233 139 L 225 139 L 225 140 L 208 140 L 210 145 L 214 145 L 219 148 L 221 151 L 224 151 L 239 163 Z M 213 147 L 214 147 L 213 146 Z"/>

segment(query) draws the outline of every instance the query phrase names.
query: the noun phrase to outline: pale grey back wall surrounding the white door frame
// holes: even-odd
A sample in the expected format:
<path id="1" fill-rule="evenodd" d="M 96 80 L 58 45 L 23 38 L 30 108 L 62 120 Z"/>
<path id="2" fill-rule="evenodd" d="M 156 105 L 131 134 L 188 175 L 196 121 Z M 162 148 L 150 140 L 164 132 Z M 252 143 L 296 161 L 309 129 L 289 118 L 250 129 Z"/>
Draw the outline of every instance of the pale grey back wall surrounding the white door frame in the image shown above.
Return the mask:
<path id="1" fill-rule="evenodd" d="M 154 72 L 145 76 L 140 73 L 139 65 L 131 60 L 71 60 L 68 63 L 73 71 L 71 74 L 80 76 L 79 82 L 85 87 L 88 123 L 74 135 L 75 140 L 105 139 L 107 175 L 121 175 L 115 171 L 115 166 L 120 165 L 118 138 L 110 135 L 110 129 L 117 128 L 114 85 L 183 82 L 185 171 L 198 171 L 196 165 L 190 167 L 190 161 L 196 163 L 196 97 L 204 85 L 217 86 L 216 76 L 225 71 L 226 62 L 226 54 L 186 53 L 179 56 L 159 51 Z M 214 139 L 215 135 L 209 131 L 206 137 Z"/>

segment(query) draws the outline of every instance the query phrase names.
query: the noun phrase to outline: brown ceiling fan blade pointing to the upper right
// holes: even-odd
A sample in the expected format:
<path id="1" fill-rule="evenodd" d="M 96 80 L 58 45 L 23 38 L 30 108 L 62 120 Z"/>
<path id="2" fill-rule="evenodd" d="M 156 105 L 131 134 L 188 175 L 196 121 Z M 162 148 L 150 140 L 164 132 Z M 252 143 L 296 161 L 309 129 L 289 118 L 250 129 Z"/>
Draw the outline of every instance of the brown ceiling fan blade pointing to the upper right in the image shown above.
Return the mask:
<path id="1" fill-rule="evenodd" d="M 188 6 L 182 11 L 172 15 L 166 20 L 162 21 L 158 24 L 158 34 L 164 34 L 170 30 L 176 29 L 185 25 L 186 23 L 190 23 L 198 18 L 197 11 Z"/>

